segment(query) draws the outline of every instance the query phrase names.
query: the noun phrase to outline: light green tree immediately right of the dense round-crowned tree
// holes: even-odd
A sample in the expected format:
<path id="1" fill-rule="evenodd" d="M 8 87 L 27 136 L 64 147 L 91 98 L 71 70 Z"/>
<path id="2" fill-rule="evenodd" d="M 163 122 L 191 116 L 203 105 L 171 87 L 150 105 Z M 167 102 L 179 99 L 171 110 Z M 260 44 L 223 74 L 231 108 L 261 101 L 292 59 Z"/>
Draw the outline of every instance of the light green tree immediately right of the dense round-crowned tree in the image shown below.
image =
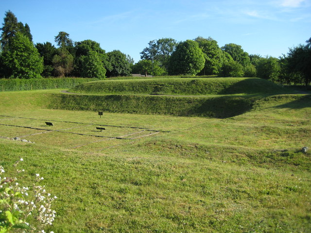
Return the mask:
<path id="1" fill-rule="evenodd" d="M 204 53 L 205 65 L 204 68 L 199 73 L 200 75 L 214 75 L 218 74 L 220 68 L 222 67 L 223 61 L 223 51 L 219 48 L 217 41 L 211 37 L 203 38 L 198 36 L 194 39 L 198 42 L 199 47 Z"/>

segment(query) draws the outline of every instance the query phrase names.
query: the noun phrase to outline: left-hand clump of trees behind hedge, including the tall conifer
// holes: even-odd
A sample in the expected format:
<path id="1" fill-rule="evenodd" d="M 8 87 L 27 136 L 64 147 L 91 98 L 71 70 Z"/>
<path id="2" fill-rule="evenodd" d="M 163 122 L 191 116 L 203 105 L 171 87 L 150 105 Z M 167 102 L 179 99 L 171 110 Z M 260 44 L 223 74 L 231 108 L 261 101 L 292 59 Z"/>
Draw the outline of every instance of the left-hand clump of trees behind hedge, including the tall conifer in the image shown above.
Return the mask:
<path id="1" fill-rule="evenodd" d="M 57 48 L 50 42 L 34 45 L 28 24 L 17 21 L 8 11 L 1 33 L 0 77 L 86 77 L 129 76 L 133 59 L 120 50 L 105 52 L 93 40 L 73 42 L 69 33 L 55 36 Z"/>

